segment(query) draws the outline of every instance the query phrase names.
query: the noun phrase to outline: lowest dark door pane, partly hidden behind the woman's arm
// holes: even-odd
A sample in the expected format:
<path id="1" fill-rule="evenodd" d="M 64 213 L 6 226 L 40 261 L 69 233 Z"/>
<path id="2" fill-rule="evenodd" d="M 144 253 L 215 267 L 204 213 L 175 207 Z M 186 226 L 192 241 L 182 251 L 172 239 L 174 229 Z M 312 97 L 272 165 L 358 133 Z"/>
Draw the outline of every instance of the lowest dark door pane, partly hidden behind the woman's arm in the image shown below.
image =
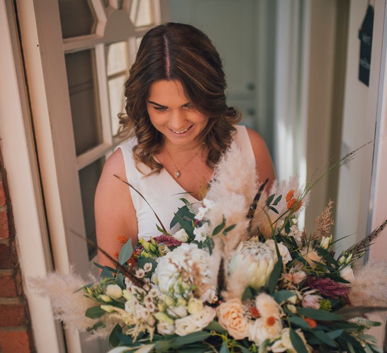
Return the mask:
<path id="1" fill-rule="evenodd" d="M 79 171 L 79 183 L 81 186 L 83 217 L 85 220 L 86 238 L 96 242 L 95 217 L 94 217 L 94 194 L 98 180 L 102 172 L 105 157 L 97 159 Z M 97 255 L 97 249 L 87 244 L 89 260 Z"/>

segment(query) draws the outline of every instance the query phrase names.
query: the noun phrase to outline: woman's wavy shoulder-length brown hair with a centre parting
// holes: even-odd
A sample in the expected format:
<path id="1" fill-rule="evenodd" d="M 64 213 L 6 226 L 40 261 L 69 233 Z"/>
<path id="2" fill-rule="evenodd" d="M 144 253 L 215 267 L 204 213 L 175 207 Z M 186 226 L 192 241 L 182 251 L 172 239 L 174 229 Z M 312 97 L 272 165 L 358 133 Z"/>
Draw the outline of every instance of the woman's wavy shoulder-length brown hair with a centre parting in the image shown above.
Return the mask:
<path id="1" fill-rule="evenodd" d="M 163 135 L 152 125 L 146 106 L 150 87 L 158 80 L 180 81 L 192 106 L 209 117 L 197 141 L 207 145 L 206 164 L 214 167 L 231 144 L 241 114 L 226 104 L 222 62 L 208 36 L 191 25 L 169 22 L 150 29 L 141 40 L 125 81 L 126 114 L 119 114 L 118 136 L 137 136 L 133 148 L 136 167 L 139 169 L 139 162 L 146 164 L 152 169 L 148 175 L 163 168 L 154 158 L 163 148 Z"/>

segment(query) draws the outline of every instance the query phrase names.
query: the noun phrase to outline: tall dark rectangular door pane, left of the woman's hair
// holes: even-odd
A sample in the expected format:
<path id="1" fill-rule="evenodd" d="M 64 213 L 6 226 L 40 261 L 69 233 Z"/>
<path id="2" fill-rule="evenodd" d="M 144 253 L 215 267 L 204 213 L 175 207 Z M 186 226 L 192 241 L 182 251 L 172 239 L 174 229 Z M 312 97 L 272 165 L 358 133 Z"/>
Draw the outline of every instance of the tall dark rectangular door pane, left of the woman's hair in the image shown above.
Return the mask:
<path id="1" fill-rule="evenodd" d="M 102 143 L 94 49 L 66 54 L 77 156 Z"/>

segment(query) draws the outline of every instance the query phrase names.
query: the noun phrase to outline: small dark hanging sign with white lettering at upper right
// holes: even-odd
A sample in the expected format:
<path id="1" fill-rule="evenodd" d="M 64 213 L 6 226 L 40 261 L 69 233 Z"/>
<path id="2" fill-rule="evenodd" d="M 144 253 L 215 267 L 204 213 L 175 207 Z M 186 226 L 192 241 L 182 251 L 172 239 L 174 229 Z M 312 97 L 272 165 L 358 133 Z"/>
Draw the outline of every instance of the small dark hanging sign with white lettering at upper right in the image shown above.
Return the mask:
<path id="1" fill-rule="evenodd" d="M 372 48 L 372 29 L 373 29 L 373 7 L 367 8 L 363 24 L 359 30 L 360 39 L 360 61 L 359 61 L 359 80 L 369 85 L 369 70 L 371 68 L 371 48 Z"/>

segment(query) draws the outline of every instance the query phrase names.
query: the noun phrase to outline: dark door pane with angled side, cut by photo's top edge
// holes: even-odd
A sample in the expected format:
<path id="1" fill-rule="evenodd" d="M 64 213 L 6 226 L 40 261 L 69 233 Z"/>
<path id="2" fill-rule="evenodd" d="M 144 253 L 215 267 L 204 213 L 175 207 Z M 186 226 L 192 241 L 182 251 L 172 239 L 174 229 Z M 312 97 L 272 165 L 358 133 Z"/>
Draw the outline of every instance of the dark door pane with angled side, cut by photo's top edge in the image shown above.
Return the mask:
<path id="1" fill-rule="evenodd" d="M 59 14 L 63 38 L 94 32 L 97 21 L 87 0 L 59 0 Z"/>

